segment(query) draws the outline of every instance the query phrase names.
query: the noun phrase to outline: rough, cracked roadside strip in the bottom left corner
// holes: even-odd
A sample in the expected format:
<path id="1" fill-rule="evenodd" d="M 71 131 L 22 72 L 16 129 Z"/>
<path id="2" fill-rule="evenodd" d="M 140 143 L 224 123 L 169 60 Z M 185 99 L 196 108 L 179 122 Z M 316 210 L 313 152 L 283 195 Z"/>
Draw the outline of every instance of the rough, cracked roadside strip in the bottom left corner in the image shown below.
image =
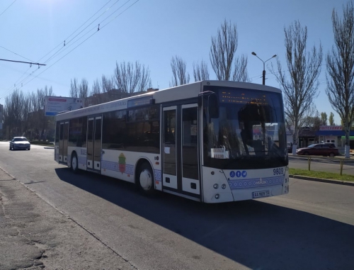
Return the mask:
<path id="1" fill-rule="evenodd" d="M 136 269 L 0 168 L 0 269 Z"/>

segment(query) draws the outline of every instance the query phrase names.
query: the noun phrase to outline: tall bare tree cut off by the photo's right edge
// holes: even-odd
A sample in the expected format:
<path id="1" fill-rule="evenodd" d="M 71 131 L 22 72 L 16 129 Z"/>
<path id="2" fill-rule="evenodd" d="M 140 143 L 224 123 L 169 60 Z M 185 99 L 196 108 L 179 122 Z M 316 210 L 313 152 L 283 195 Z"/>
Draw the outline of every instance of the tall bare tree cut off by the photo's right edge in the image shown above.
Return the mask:
<path id="1" fill-rule="evenodd" d="M 327 54 L 326 94 L 341 117 L 346 134 L 345 155 L 350 157 L 350 128 L 354 120 L 354 7 L 343 6 L 343 18 L 332 11 L 334 45 Z"/>

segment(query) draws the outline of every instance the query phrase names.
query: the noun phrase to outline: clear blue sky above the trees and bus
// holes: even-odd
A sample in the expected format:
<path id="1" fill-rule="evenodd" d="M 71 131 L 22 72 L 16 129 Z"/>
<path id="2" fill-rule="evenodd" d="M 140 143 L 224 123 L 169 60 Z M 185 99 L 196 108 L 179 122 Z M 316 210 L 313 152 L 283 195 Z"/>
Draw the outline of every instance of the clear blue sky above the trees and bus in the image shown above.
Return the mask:
<path id="1" fill-rule="evenodd" d="M 193 62 L 207 62 L 211 38 L 224 20 L 237 26 L 236 56 L 248 58 L 251 81 L 262 84 L 263 62 L 273 55 L 286 69 L 285 35 L 295 21 L 307 27 L 307 50 L 320 43 L 325 55 L 333 46 L 331 13 L 343 13 L 344 0 L 1 0 L 0 103 L 13 90 L 24 94 L 52 87 L 69 96 L 73 79 L 89 82 L 114 74 L 116 64 L 136 62 L 149 68 L 152 86 L 166 89 L 171 58 L 181 57 L 193 82 Z M 98 30 L 99 28 L 99 30 Z M 256 52 L 257 57 L 251 55 Z M 280 87 L 265 63 L 265 84 Z M 13 60 L 46 64 L 8 62 Z M 341 120 L 326 96 L 326 63 L 321 66 L 321 112 Z"/>

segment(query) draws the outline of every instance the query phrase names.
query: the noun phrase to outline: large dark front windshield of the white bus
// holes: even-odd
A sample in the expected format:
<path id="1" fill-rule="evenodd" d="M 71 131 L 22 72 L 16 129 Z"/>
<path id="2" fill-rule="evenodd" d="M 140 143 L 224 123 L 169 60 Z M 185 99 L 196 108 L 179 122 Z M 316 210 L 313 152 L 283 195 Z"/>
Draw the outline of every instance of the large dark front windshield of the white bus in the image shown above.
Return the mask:
<path id="1" fill-rule="evenodd" d="M 286 166 L 282 96 L 272 91 L 210 86 L 217 115 L 204 102 L 204 164 L 219 169 Z"/>

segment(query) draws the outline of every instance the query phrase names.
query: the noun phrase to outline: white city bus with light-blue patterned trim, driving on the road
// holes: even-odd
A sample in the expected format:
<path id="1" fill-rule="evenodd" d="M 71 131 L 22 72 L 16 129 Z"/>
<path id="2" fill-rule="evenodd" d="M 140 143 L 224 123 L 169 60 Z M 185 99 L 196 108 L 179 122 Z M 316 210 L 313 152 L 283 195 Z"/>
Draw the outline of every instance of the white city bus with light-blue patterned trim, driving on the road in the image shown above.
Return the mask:
<path id="1" fill-rule="evenodd" d="M 204 203 L 289 192 L 280 89 L 198 81 L 59 113 L 55 160 Z"/>

